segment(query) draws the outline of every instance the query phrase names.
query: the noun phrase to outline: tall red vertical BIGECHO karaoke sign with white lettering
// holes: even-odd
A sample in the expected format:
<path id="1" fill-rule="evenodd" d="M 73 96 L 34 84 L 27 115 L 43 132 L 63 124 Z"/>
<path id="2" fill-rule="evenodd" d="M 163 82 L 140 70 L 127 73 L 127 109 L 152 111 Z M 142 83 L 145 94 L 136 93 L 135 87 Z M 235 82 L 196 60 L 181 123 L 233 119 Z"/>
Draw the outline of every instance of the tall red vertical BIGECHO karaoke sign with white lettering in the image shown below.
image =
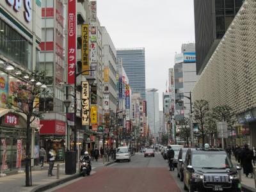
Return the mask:
<path id="1" fill-rule="evenodd" d="M 76 1 L 68 0 L 68 84 L 76 78 Z"/>

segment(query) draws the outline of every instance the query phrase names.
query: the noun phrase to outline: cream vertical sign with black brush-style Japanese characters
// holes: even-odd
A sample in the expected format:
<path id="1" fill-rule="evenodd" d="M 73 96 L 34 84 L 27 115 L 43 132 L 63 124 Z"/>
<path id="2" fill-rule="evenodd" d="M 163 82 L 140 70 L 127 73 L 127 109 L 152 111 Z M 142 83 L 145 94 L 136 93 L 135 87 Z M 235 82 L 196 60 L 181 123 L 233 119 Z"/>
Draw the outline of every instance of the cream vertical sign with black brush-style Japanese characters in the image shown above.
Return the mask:
<path id="1" fill-rule="evenodd" d="M 89 83 L 82 82 L 82 125 L 89 125 Z"/>

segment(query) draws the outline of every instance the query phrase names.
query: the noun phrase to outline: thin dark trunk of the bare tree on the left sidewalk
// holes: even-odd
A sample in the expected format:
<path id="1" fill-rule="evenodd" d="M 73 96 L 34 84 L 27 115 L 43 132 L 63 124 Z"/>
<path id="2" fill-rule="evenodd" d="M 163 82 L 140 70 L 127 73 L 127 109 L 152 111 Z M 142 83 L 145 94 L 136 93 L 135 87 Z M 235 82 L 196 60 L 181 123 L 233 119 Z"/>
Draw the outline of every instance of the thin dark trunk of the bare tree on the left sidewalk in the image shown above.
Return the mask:
<path id="1" fill-rule="evenodd" d="M 26 172 L 26 187 L 31 186 L 30 183 L 30 174 L 29 174 L 29 168 L 30 168 L 30 142 L 31 142 L 31 138 L 30 138 L 30 116 L 27 116 L 27 132 L 26 132 L 26 168 L 25 168 L 25 172 Z"/>

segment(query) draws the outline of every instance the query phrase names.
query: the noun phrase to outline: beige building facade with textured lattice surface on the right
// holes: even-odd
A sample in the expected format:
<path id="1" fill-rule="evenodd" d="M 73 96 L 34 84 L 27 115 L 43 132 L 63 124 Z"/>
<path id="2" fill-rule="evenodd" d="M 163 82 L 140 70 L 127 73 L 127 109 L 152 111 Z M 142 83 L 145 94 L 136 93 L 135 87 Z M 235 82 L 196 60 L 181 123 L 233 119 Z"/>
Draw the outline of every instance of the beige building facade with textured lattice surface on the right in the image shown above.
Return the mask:
<path id="1" fill-rule="evenodd" d="M 236 122 L 228 131 L 232 145 L 256 145 L 255 5 L 244 1 L 193 89 L 193 100 L 233 109 Z"/>

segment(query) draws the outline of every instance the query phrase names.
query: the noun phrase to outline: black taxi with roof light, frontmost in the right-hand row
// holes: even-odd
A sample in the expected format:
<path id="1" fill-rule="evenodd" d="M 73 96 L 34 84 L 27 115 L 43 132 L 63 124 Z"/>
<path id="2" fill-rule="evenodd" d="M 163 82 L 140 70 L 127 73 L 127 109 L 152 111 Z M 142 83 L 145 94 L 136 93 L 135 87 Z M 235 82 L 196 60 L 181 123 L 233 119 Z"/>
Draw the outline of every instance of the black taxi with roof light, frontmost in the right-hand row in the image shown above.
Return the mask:
<path id="1" fill-rule="evenodd" d="M 236 168 L 219 148 L 189 148 L 184 161 L 184 189 L 189 191 L 241 191 Z"/>

